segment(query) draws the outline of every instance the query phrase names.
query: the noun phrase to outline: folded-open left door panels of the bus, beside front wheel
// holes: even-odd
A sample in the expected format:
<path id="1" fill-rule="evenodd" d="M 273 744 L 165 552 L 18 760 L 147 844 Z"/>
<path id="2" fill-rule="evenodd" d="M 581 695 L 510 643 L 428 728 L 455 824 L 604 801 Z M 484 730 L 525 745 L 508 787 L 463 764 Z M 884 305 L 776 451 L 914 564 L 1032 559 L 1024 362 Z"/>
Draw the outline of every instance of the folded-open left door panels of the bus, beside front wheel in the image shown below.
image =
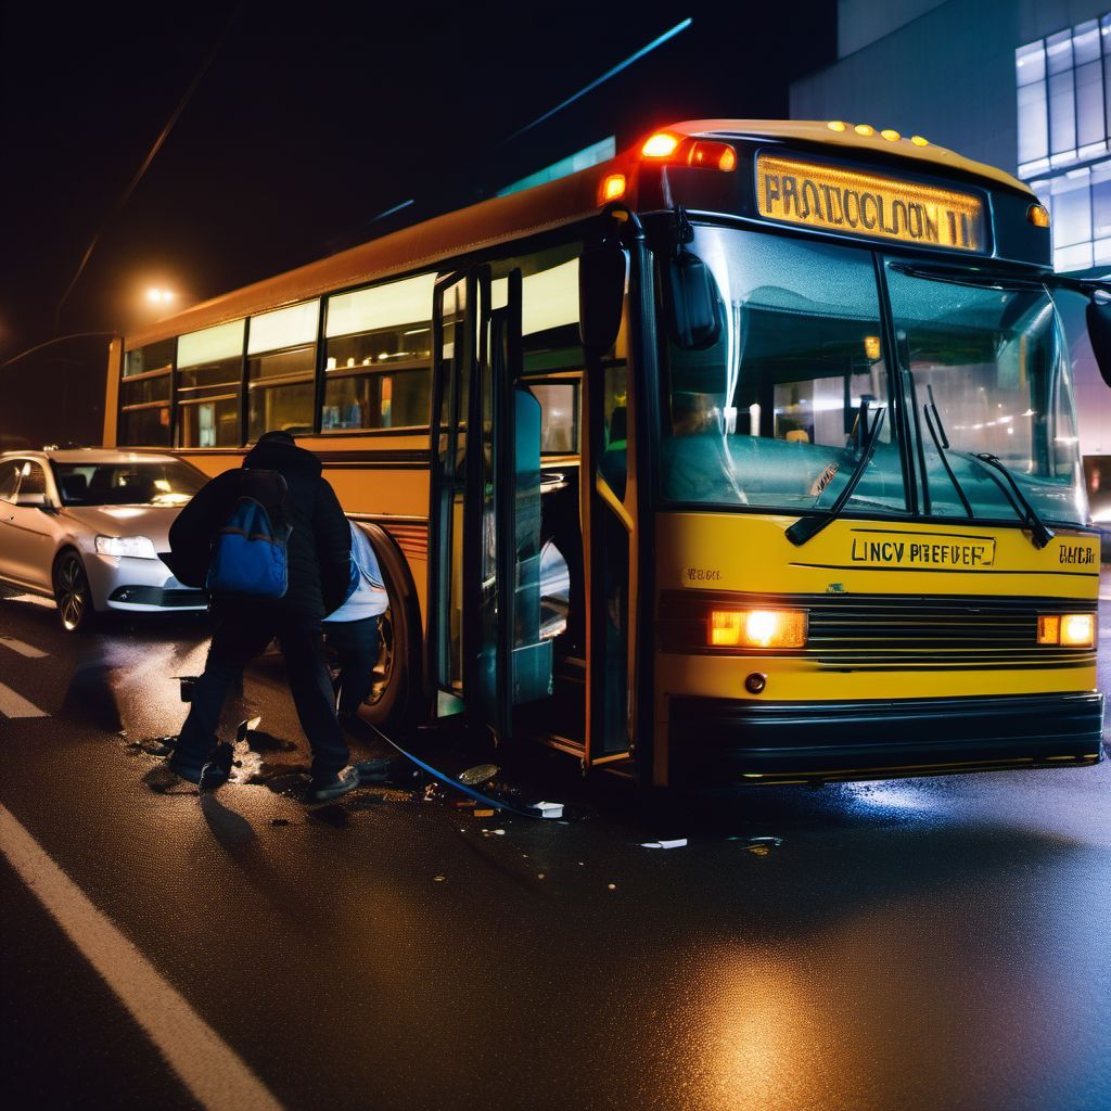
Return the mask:
<path id="1" fill-rule="evenodd" d="M 437 718 L 499 738 L 551 694 L 540 638 L 540 403 L 521 380 L 521 276 L 440 279 L 433 302 L 429 670 Z"/>

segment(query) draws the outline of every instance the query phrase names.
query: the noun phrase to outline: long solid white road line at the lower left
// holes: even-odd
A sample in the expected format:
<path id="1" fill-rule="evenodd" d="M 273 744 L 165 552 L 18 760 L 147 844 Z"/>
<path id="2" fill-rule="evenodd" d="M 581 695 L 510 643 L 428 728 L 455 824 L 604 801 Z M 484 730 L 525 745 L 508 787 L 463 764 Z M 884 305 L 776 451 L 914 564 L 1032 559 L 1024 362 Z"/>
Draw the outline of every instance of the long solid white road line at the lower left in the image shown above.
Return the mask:
<path id="1" fill-rule="evenodd" d="M 0 851 L 202 1107 L 212 1111 L 281 1111 L 281 1104 L 242 1058 L 93 907 L 3 805 Z"/>

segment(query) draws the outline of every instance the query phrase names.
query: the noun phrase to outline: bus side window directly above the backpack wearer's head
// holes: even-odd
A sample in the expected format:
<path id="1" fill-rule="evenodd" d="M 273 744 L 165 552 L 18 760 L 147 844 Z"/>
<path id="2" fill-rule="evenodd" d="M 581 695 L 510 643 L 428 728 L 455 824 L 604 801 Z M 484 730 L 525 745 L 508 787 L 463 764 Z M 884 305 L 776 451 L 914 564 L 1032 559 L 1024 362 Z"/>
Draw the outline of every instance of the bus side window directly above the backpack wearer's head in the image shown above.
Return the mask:
<path id="1" fill-rule="evenodd" d="M 247 344 L 247 438 L 311 432 L 320 301 L 251 317 Z"/>

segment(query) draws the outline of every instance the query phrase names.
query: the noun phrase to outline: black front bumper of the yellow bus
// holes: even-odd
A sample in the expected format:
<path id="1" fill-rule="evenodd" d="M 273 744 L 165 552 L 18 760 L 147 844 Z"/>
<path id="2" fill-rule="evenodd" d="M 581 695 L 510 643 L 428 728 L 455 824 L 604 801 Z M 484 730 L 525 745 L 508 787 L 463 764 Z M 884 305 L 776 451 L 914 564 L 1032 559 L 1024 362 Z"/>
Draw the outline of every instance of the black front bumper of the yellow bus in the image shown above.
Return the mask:
<path id="1" fill-rule="evenodd" d="M 1098 763 L 1098 691 L 774 703 L 670 700 L 670 781 L 888 779 Z"/>

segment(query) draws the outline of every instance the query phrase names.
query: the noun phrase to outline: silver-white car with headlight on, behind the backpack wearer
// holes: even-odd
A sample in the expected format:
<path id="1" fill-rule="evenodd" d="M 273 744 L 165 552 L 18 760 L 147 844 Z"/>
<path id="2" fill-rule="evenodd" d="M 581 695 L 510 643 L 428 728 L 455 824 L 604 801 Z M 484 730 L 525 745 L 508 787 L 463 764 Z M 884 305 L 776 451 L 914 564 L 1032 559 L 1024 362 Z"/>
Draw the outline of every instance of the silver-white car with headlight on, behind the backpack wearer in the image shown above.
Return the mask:
<path id="1" fill-rule="evenodd" d="M 81 448 L 0 453 L 0 585 L 53 598 L 63 628 L 108 610 L 203 610 L 159 559 L 208 477 L 173 456 Z"/>

